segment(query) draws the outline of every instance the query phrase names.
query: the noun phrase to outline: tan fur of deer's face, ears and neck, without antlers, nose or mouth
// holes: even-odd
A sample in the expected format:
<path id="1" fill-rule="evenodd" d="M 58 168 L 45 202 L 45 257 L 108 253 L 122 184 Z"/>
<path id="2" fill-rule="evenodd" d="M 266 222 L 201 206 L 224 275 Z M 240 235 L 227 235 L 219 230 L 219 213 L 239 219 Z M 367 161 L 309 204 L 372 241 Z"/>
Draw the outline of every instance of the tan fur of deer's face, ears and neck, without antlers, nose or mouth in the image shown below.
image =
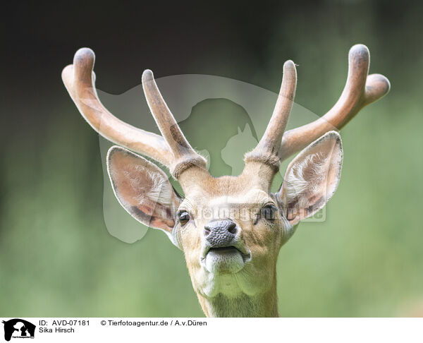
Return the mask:
<path id="1" fill-rule="evenodd" d="M 342 147 L 333 131 L 309 145 L 291 162 L 285 186 L 278 193 L 270 193 L 274 167 L 254 160 L 246 162 L 239 176 L 216 178 L 201 167 L 185 169 L 178 179 L 184 199 L 173 191 L 159 167 L 133 152 L 111 148 L 107 162 L 121 205 L 140 222 L 164 230 L 184 252 L 206 315 L 274 317 L 278 315 L 279 250 L 292 236 L 295 224 L 323 207 L 336 189 Z M 259 216 L 266 205 L 278 209 L 272 220 Z M 297 212 L 290 217 L 287 211 L 292 209 Z M 176 212 L 188 212 L 189 222 L 180 224 L 169 215 Z M 231 219 L 238 227 L 236 248 L 244 263 L 238 271 L 210 272 L 204 265 L 204 227 L 214 219 Z"/>

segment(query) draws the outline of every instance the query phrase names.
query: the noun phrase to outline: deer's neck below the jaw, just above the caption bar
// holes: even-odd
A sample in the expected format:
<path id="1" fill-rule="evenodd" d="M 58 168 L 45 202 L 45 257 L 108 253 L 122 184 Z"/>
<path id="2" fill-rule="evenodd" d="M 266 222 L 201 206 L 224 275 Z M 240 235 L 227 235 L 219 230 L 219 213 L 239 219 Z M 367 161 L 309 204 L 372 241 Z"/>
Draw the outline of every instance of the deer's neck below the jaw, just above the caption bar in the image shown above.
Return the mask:
<path id="1" fill-rule="evenodd" d="M 238 296 L 217 294 L 206 298 L 197 294 L 202 310 L 207 317 L 278 317 L 276 275 L 271 288 L 253 296 L 242 293 Z"/>

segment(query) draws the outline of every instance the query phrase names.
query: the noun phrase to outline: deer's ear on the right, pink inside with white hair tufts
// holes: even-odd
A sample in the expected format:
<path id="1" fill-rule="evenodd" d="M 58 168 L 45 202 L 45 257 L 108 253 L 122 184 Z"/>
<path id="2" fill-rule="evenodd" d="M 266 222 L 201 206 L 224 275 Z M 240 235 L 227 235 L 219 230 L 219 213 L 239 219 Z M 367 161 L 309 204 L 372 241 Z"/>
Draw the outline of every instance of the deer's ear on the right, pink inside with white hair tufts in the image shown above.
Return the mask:
<path id="1" fill-rule="evenodd" d="M 329 131 L 290 162 L 277 198 L 290 224 L 314 215 L 338 188 L 343 150 L 341 136 Z"/>

